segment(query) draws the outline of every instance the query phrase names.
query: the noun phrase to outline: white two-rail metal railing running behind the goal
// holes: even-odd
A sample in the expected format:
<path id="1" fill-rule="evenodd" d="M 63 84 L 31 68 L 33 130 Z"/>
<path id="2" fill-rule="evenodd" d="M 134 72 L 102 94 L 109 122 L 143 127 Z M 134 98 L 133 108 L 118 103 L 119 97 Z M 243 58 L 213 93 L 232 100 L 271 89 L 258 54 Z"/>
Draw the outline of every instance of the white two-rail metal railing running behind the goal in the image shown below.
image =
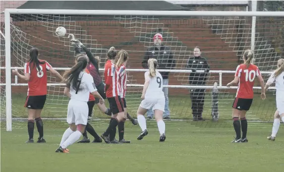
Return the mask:
<path id="1" fill-rule="evenodd" d="M 5 67 L 0 67 L 0 69 L 5 69 Z M 24 67 L 11 67 L 11 69 L 15 70 L 23 70 Z M 55 70 L 68 70 L 70 68 L 67 67 L 54 67 Z M 99 71 L 104 71 L 103 68 L 100 68 Z M 126 69 L 126 71 L 136 71 L 136 72 L 146 72 L 148 69 Z M 158 69 L 160 72 L 178 72 L 178 73 L 190 73 L 192 70 L 180 70 L 180 69 Z M 204 70 L 196 70 L 196 72 L 205 72 Z M 227 88 L 227 86 L 223 86 L 222 84 L 222 74 L 223 73 L 235 73 L 232 70 L 210 70 L 209 73 L 219 73 L 219 89 L 237 89 L 236 86 Z M 262 74 L 271 74 L 272 71 L 261 71 Z M 232 78 L 233 79 L 233 78 Z M 4 84 L 0 84 L 0 86 L 4 86 Z M 15 83 L 11 83 L 11 86 L 27 86 L 27 83 L 18 83 L 18 76 L 15 76 Z M 48 86 L 65 86 L 64 83 L 48 83 Z M 225 84 L 226 85 L 226 84 Z M 127 84 L 127 87 L 143 87 L 143 84 Z M 164 87 L 168 88 L 204 88 L 204 89 L 212 89 L 213 86 L 193 86 L 193 85 L 164 85 Z M 253 87 L 254 89 L 261 89 L 261 87 Z M 269 89 L 275 89 L 275 87 L 270 87 Z"/>

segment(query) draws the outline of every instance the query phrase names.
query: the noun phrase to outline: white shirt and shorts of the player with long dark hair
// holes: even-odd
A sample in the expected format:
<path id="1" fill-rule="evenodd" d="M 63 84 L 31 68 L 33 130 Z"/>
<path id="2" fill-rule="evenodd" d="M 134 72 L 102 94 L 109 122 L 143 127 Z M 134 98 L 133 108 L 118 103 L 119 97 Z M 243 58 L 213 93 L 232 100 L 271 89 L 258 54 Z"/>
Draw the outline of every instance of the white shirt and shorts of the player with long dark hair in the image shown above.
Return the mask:
<path id="1" fill-rule="evenodd" d="M 81 72 L 79 79 L 81 83 L 78 90 L 74 90 L 72 84 L 70 84 L 71 99 L 67 108 L 67 122 L 68 124 L 86 125 L 89 113 L 87 102 L 89 101 L 90 93 L 97 91 L 97 88 L 90 74 Z"/>

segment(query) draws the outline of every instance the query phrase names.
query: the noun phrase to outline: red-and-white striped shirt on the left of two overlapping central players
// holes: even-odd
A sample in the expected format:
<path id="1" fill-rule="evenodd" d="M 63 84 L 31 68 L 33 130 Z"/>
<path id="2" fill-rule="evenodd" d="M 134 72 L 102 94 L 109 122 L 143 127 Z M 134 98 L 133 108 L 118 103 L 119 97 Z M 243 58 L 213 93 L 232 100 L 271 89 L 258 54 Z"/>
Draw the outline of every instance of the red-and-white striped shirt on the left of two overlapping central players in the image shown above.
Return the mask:
<path id="1" fill-rule="evenodd" d="M 115 69 L 115 64 L 108 60 L 105 64 L 105 91 L 107 98 L 120 96 L 120 84 L 118 82 L 118 74 Z"/>

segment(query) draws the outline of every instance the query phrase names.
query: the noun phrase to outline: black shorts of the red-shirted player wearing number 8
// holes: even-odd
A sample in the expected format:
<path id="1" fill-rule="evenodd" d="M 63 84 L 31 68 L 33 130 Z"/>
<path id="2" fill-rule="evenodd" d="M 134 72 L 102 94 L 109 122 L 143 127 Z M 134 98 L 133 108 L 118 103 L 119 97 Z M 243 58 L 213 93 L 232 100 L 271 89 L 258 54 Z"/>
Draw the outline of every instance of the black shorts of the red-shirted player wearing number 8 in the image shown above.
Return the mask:
<path id="1" fill-rule="evenodd" d="M 28 109 L 43 109 L 46 103 L 47 95 L 43 96 L 27 96 L 25 108 Z"/>

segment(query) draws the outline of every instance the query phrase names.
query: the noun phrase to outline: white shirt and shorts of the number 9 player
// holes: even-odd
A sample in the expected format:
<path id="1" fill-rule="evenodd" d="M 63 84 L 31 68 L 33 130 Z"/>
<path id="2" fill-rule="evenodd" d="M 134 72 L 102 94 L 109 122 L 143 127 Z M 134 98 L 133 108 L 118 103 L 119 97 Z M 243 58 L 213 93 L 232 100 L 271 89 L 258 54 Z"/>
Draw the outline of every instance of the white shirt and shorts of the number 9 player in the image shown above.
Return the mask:
<path id="1" fill-rule="evenodd" d="M 165 95 L 163 92 L 162 75 L 156 71 L 156 76 L 150 77 L 149 71 L 145 72 L 145 80 L 150 80 L 149 86 L 145 93 L 145 99 L 142 100 L 140 107 L 144 109 L 158 109 L 165 112 Z"/>

